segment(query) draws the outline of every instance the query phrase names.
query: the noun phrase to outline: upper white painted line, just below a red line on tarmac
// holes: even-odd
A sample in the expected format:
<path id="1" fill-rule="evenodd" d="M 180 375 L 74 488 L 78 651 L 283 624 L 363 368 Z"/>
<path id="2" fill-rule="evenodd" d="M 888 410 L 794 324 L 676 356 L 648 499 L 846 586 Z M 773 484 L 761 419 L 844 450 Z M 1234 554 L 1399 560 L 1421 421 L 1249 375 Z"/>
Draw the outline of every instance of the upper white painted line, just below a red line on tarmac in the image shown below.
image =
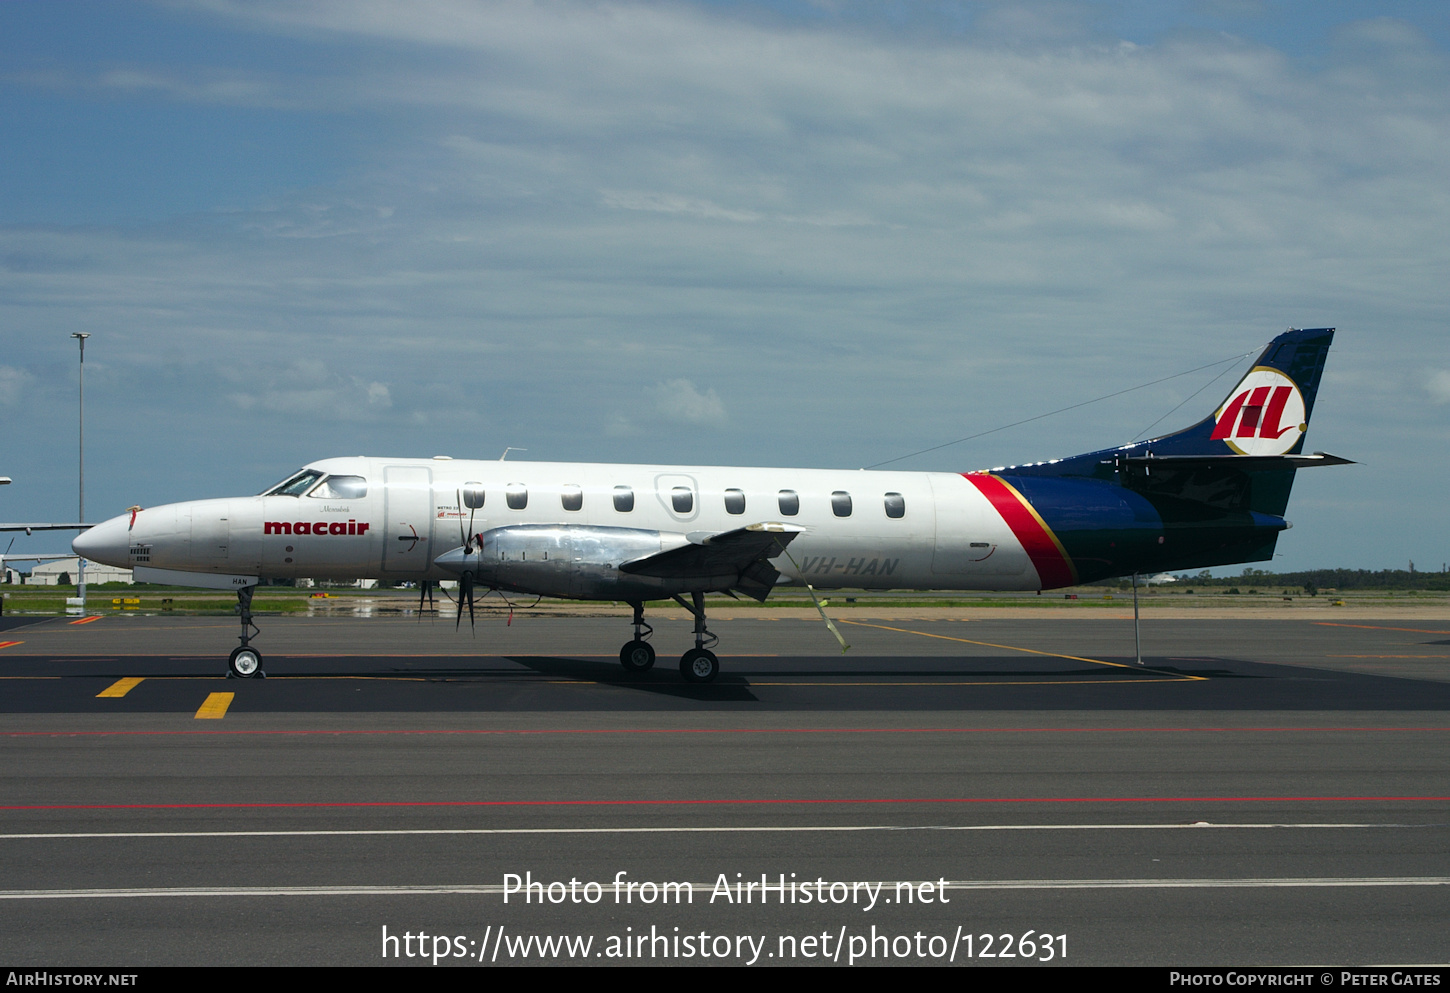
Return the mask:
<path id="1" fill-rule="evenodd" d="M 699 834 L 834 834 L 864 831 L 1270 831 L 1437 828 L 1418 823 L 972 823 L 972 825 L 815 825 L 742 828 L 358 828 L 338 831 L 75 831 L 0 834 L 0 841 L 71 838 L 362 838 L 370 835 L 699 835 Z"/>

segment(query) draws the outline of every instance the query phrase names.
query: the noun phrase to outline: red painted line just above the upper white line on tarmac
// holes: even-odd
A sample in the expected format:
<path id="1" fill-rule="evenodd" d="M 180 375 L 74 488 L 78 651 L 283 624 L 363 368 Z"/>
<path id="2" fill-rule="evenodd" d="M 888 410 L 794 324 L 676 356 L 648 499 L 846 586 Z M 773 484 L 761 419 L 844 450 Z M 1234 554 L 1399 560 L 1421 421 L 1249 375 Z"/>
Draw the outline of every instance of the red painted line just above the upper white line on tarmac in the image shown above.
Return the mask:
<path id="1" fill-rule="evenodd" d="M 258 810 L 339 807 L 606 807 L 606 806 L 783 806 L 850 803 L 1395 803 L 1444 802 L 1450 796 L 961 796 L 961 797 L 848 797 L 848 799 L 729 799 L 729 800 L 325 800 L 260 803 L 35 803 L 6 805 L 0 810 Z"/>

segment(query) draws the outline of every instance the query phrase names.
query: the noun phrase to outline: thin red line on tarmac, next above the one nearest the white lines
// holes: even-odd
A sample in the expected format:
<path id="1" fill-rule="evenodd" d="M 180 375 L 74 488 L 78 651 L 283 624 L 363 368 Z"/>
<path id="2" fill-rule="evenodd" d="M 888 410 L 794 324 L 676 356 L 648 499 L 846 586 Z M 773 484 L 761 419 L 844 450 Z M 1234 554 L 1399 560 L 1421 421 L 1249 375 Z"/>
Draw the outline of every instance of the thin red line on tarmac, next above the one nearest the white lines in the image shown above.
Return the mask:
<path id="1" fill-rule="evenodd" d="M 86 738 L 106 735 L 1021 735 L 1021 734 L 1125 734 L 1125 732 L 1302 732 L 1302 731 L 1450 731 L 1450 726 L 1385 728 L 1378 725 L 1343 726 L 1263 726 L 1263 728 L 390 728 L 354 731 L 0 731 L 0 738 Z"/>

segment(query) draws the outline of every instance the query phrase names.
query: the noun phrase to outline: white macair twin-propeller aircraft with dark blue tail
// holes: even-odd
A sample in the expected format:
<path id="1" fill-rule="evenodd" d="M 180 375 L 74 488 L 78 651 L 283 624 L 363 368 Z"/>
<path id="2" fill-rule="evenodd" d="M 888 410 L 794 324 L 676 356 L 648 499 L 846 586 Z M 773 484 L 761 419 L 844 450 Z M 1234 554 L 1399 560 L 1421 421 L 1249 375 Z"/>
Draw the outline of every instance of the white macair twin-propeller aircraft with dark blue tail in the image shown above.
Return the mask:
<path id="1" fill-rule="evenodd" d="M 780 584 L 1044 590 L 1273 555 L 1334 331 L 1289 331 L 1211 416 L 1173 435 L 980 473 L 329 458 L 261 496 L 135 509 L 78 555 L 136 581 L 235 589 L 236 677 L 261 577 L 460 581 L 634 606 L 625 668 L 654 665 L 644 603 L 695 616 L 686 680 L 709 681 L 706 593 Z M 687 597 L 687 599 L 686 599 Z"/>

